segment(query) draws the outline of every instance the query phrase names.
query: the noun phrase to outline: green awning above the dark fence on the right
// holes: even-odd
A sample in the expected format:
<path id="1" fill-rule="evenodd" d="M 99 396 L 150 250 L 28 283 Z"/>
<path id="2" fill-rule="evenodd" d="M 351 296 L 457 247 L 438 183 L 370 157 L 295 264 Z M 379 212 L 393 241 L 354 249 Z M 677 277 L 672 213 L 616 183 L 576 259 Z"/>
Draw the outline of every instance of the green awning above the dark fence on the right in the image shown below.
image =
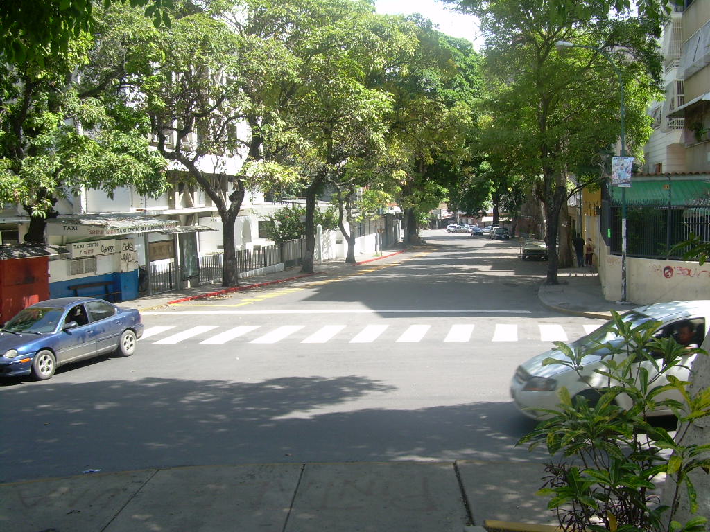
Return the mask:
<path id="1" fill-rule="evenodd" d="M 672 206 L 709 206 L 710 182 L 632 181 L 631 187 L 626 189 L 627 205 L 668 205 L 669 199 Z M 621 205 L 620 187 L 611 187 L 611 204 Z"/>

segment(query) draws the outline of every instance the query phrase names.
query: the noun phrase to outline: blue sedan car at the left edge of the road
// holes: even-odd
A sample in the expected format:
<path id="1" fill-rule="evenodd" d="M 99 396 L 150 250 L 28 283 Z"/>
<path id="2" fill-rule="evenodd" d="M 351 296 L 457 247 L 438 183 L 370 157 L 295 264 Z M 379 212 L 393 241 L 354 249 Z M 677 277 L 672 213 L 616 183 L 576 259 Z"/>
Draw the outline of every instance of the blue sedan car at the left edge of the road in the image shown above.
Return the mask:
<path id="1" fill-rule="evenodd" d="M 0 376 L 45 380 L 70 362 L 116 352 L 129 357 L 143 336 L 141 314 L 91 297 L 28 306 L 0 329 Z"/>

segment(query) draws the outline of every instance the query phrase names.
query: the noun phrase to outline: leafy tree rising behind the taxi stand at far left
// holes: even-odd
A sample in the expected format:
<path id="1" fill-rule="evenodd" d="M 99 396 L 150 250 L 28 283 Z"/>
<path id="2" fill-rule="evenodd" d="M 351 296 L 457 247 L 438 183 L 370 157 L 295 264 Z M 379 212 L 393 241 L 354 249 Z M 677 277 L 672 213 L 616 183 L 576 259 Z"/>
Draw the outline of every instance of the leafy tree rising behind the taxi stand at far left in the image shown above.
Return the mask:
<path id="1" fill-rule="evenodd" d="M 31 242 L 43 242 L 56 201 L 83 187 L 109 196 L 126 185 L 146 195 L 165 189 L 165 161 L 149 149 L 148 121 L 120 90 L 133 54 L 104 53 L 102 17 L 96 38 L 82 33 L 46 65 L 32 55 L 0 65 L 0 202 L 31 214 Z M 111 20 L 114 43 L 135 36 L 121 33 L 135 22 L 130 17 Z"/>

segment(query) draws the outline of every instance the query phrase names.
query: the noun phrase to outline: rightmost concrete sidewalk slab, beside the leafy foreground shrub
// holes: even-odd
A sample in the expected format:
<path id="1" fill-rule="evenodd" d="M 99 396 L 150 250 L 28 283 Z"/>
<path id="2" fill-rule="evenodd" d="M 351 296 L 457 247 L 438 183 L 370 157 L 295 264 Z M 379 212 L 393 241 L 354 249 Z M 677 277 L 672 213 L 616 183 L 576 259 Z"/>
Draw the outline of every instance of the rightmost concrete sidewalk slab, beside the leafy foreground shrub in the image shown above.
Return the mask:
<path id="1" fill-rule="evenodd" d="M 541 462 L 457 462 L 474 523 L 486 519 L 558 525 L 547 498 L 535 495 L 542 487 Z"/>

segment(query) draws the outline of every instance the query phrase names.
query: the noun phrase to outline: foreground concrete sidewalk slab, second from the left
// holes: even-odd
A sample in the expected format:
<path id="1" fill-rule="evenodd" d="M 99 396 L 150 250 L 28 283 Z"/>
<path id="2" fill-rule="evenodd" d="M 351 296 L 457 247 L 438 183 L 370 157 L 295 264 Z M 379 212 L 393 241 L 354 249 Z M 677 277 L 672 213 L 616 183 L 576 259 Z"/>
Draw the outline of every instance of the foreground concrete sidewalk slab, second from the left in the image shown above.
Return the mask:
<path id="1" fill-rule="evenodd" d="M 281 532 L 302 465 L 158 471 L 106 532 Z"/>

